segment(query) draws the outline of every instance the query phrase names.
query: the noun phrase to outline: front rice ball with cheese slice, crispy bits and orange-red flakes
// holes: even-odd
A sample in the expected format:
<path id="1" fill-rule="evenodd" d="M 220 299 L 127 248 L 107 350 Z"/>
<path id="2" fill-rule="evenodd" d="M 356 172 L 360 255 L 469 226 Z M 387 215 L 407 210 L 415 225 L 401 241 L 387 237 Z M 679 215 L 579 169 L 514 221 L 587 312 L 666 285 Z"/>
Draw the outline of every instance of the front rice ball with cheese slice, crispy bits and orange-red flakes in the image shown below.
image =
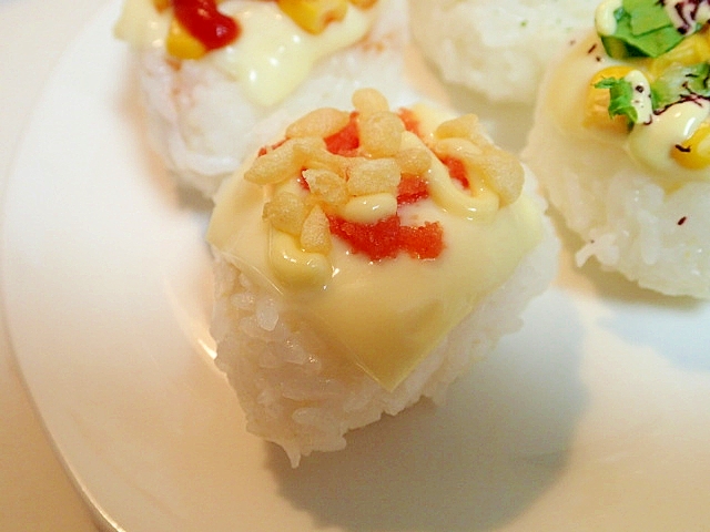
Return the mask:
<path id="1" fill-rule="evenodd" d="M 448 385 L 556 273 L 531 174 L 473 114 L 352 110 L 290 124 L 223 183 L 214 252 L 216 364 L 247 429 L 296 467 Z"/>

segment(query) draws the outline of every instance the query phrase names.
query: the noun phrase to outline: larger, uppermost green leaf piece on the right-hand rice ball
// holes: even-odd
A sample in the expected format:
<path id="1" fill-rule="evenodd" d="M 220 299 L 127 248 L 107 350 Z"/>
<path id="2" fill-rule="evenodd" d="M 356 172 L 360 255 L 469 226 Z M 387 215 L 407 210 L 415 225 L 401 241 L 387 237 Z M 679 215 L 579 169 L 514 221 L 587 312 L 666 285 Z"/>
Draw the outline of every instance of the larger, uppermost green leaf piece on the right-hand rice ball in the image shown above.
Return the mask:
<path id="1" fill-rule="evenodd" d="M 617 59 L 657 58 L 683 40 L 660 2 L 623 0 L 613 12 L 617 28 L 612 35 L 599 35 L 607 53 Z"/>

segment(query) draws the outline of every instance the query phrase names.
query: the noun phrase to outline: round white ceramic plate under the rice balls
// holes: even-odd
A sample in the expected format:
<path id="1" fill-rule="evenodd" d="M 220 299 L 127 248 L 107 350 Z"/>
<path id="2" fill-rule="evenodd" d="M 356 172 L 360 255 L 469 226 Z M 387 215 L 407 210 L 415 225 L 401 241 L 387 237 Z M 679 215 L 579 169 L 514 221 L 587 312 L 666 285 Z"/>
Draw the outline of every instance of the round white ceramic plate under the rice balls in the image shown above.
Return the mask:
<path id="1" fill-rule="evenodd" d="M 111 38 L 118 9 L 79 35 L 38 104 L 8 185 L 2 264 L 22 374 L 108 524 L 706 530 L 710 308 L 575 270 L 568 253 L 523 330 L 446 406 L 355 431 L 297 470 L 247 434 L 211 359 L 207 213 L 145 147 L 128 52 Z M 527 119 L 511 116 L 491 125 L 515 146 Z"/>

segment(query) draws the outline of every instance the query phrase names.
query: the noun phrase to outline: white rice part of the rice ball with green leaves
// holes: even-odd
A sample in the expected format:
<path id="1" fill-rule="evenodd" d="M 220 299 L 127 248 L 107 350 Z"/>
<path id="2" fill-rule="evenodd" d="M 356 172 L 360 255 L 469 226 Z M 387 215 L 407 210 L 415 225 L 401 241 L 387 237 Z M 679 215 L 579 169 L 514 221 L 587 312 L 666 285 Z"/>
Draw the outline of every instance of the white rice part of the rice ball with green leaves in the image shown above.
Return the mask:
<path id="1" fill-rule="evenodd" d="M 556 120 L 555 113 L 569 119 L 566 124 L 575 120 L 581 124 L 584 109 L 575 102 L 579 103 L 577 94 L 586 91 L 590 76 L 568 79 L 564 91 L 555 76 L 568 55 L 589 55 L 590 42 L 580 39 L 570 44 L 550 68 L 521 157 L 568 227 L 584 241 L 576 255 L 579 266 L 595 257 L 605 269 L 618 270 L 641 287 L 710 298 L 710 182 L 665 187 L 621 143 L 579 134 L 580 126 L 565 127 Z M 598 68 L 595 57 L 588 62 Z M 552 101 L 569 104 L 554 111 Z"/>

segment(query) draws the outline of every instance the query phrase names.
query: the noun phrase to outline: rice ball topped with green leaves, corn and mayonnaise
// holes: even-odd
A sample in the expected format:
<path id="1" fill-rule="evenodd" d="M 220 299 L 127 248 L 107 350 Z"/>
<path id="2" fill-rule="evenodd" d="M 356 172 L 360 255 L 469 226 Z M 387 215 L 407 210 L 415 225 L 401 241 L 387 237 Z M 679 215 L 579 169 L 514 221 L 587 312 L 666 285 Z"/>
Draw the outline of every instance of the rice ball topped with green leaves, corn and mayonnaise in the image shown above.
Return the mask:
<path id="1" fill-rule="evenodd" d="M 595 257 L 710 297 L 707 0 L 606 0 L 546 76 L 523 157 Z M 590 20 L 591 25 L 591 20 Z"/>

